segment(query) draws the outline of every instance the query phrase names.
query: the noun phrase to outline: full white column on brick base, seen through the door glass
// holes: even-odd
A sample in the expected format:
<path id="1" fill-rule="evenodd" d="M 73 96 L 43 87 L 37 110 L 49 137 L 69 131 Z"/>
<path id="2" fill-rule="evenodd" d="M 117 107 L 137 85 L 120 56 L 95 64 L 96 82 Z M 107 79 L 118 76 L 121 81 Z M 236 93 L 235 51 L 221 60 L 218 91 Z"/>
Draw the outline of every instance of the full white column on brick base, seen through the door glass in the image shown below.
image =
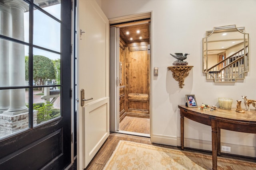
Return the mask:
<path id="1" fill-rule="evenodd" d="M 24 41 L 24 12 L 25 8 L 18 2 L 10 2 L 12 18 L 11 37 Z M 24 45 L 11 43 L 10 45 L 10 86 L 25 86 L 25 48 Z M 16 115 L 28 111 L 26 107 L 25 89 L 10 90 L 10 108 L 4 114 Z"/>

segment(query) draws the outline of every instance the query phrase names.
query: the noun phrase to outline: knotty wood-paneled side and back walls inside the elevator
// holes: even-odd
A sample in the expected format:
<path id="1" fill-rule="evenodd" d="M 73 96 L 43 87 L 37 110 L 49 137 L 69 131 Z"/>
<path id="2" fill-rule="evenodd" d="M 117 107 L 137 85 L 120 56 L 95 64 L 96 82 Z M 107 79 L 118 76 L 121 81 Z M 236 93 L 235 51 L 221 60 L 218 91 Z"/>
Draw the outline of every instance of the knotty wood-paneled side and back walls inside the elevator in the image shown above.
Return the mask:
<path id="1" fill-rule="evenodd" d="M 122 62 L 120 84 L 120 121 L 124 116 L 150 117 L 150 55 L 148 41 L 128 43 L 120 40 Z"/>

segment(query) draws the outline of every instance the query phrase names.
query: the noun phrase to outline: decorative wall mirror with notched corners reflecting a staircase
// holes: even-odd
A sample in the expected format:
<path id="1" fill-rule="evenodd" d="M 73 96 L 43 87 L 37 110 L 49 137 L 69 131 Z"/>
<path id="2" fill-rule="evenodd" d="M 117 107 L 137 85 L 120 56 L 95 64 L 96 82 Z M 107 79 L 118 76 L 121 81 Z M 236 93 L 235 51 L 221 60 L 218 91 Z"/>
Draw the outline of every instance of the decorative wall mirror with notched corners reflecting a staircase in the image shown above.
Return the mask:
<path id="1" fill-rule="evenodd" d="M 249 70 L 249 34 L 244 27 L 228 25 L 206 31 L 203 38 L 203 72 L 214 82 L 236 82 Z"/>

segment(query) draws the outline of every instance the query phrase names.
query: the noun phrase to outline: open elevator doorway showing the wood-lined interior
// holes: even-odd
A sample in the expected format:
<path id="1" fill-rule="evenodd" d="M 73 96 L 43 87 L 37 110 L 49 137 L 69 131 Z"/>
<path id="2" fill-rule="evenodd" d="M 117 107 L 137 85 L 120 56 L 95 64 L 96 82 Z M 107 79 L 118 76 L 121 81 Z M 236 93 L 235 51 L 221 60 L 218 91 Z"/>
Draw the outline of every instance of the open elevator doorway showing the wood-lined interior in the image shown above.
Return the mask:
<path id="1" fill-rule="evenodd" d="M 110 27 L 117 35 L 114 131 L 150 137 L 150 17 Z"/>

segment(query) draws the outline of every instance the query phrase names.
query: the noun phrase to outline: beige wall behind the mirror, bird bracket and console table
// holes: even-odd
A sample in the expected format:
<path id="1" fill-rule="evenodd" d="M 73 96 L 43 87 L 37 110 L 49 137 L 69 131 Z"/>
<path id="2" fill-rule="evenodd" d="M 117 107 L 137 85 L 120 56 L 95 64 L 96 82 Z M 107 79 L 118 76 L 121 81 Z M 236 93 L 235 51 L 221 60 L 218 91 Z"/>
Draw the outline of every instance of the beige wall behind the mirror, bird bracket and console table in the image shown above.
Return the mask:
<path id="1" fill-rule="evenodd" d="M 102 10 L 109 19 L 152 12 L 152 134 L 154 143 L 180 145 L 178 105 L 185 104 L 186 94 L 194 94 L 200 105 L 218 105 L 218 97 L 233 99 L 232 107 L 242 95 L 256 99 L 256 1 L 255 0 L 102 0 Z M 236 83 L 206 81 L 202 73 L 202 38 L 214 26 L 245 27 L 249 33 L 250 71 Z M 170 53 L 189 53 L 186 61 L 194 66 L 185 79 L 184 88 L 167 70 L 174 58 Z M 152 70 L 152 69 L 151 69 Z M 242 108 L 244 106 L 242 105 Z M 185 119 L 185 146 L 211 150 L 211 128 Z M 255 156 L 256 135 L 221 131 L 221 142 L 231 146 L 231 153 Z"/>

